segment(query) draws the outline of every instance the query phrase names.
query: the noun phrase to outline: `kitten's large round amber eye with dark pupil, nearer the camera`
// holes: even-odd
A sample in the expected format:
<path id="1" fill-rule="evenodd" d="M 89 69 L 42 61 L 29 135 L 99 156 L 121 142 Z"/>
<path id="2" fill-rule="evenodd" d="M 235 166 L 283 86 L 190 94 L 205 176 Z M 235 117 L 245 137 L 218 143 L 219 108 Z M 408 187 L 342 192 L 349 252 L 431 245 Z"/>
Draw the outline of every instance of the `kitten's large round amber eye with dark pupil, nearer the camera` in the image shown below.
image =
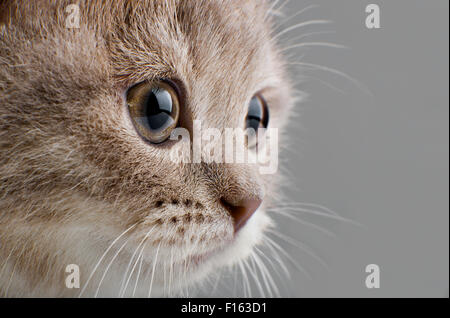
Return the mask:
<path id="1" fill-rule="evenodd" d="M 178 94 L 164 81 L 142 82 L 127 93 L 134 127 L 147 141 L 162 143 L 177 126 L 180 113 Z"/>

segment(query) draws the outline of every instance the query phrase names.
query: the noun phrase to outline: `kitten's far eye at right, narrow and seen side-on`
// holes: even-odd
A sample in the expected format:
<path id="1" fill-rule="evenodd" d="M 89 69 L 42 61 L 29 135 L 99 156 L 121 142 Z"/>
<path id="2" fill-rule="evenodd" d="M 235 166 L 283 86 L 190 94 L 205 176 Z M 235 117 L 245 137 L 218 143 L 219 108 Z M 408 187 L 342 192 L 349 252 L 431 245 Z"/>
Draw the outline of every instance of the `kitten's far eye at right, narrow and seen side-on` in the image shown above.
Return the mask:
<path id="1" fill-rule="evenodd" d="M 247 141 L 248 147 L 254 148 L 257 145 L 258 129 L 267 128 L 269 125 L 269 108 L 261 95 L 257 94 L 251 99 L 245 123 L 247 129 L 254 131 L 248 135 Z"/>

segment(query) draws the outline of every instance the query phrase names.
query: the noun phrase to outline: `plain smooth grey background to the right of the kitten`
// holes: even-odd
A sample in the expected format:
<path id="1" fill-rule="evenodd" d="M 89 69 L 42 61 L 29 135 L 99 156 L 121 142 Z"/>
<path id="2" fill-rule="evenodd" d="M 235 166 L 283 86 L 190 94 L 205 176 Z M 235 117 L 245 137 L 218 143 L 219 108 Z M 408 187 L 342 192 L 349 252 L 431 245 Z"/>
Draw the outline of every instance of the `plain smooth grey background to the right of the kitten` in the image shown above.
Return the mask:
<path id="1" fill-rule="evenodd" d="M 380 6 L 381 29 L 365 27 L 369 3 Z M 301 215 L 336 234 L 330 237 L 280 219 L 284 233 L 328 264 L 283 244 L 310 278 L 291 267 L 282 296 L 448 297 L 449 2 L 291 0 L 287 16 L 311 4 L 319 7 L 285 26 L 333 24 L 297 29 L 285 43 L 334 30 L 302 40 L 349 49 L 298 49 L 290 60 L 339 69 L 371 94 L 336 74 L 293 70 L 309 97 L 290 126 L 294 150 L 284 153 L 284 171 L 294 185 L 285 190 L 293 201 L 325 205 L 365 227 Z M 365 287 L 371 263 L 381 269 L 380 289 Z"/>

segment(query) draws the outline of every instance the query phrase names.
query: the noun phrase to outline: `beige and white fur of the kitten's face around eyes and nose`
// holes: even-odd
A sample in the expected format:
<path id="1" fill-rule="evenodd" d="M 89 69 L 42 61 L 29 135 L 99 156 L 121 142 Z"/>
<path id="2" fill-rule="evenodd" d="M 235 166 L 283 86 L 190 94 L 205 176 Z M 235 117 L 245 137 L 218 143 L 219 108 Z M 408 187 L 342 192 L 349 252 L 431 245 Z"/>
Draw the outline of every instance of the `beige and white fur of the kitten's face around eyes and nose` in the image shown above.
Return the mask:
<path id="1" fill-rule="evenodd" d="M 194 120 L 244 128 L 259 93 L 282 129 L 292 101 L 269 4 L 92 1 L 67 29 L 69 3 L 6 2 L 0 14 L 0 291 L 172 295 L 247 257 L 271 225 L 277 178 L 258 164 L 174 163 L 180 143 L 145 142 L 127 92 L 175 83 L 189 132 Z M 248 199 L 262 203 L 236 231 L 223 201 Z M 68 264 L 78 290 L 64 284 Z"/>

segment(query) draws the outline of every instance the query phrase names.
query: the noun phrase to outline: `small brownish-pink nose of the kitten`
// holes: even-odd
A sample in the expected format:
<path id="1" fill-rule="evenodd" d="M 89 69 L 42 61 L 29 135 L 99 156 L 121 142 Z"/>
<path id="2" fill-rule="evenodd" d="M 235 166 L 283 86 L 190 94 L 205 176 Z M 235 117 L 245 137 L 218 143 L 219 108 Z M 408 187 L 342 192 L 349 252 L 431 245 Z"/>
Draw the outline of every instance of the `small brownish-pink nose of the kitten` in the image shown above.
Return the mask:
<path id="1" fill-rule="evenodd" d="M 222 206 L 230 213 L 234 221 L 234 232 L 239 231 L 255 211 L 261 205 L 259 198 L 243 198 L 238 200 L 229 200 L 225 197 L 220 199 Z"/>

